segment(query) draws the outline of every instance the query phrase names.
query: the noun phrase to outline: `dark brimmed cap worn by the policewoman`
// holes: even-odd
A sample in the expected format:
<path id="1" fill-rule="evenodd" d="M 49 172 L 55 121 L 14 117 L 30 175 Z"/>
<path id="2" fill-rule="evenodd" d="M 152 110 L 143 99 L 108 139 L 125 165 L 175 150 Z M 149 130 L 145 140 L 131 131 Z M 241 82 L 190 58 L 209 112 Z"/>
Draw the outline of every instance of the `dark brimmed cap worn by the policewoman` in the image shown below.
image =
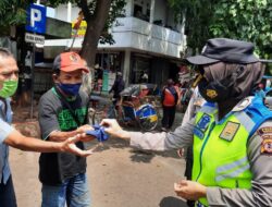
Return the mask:
<path id="1" fill-rule="evenodd" d="M 193 64 L 211 64 L 215 62 L 254 63 L 260 60 L 254 54 L 254 44 L 227 38 L 209 39 L 200 56 L 186 60 Z"/>

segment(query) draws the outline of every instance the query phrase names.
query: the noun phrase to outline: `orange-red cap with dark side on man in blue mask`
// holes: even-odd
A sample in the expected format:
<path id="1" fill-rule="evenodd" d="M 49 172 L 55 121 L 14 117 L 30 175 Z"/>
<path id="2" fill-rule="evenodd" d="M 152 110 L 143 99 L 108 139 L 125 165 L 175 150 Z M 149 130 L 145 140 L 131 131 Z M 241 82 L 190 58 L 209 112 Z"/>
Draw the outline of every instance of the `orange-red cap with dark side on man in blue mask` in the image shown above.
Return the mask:
<path id="1" fill-rule="evenodd" d="M 53 61 L 53 70 L 61 70 L 64 72 L 72 72 L 82 69 L 83 72 L 88 73 L 84 60 L 75 52 L 63 52 L 55 57 Z"/>

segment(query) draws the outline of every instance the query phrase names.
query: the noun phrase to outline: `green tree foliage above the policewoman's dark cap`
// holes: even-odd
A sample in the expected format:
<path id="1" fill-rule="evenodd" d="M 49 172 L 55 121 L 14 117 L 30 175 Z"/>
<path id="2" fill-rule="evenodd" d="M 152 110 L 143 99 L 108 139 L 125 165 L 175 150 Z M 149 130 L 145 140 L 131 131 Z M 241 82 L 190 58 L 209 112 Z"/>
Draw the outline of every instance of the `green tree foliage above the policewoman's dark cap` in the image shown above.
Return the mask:
<path id="1" fill-rule="evenodd" d="M 271 0 L 169 0 L 186 16 L 187 45 L 201 48 L 213 37 L 251 41 L 261 58 L 272 59 Z"/>

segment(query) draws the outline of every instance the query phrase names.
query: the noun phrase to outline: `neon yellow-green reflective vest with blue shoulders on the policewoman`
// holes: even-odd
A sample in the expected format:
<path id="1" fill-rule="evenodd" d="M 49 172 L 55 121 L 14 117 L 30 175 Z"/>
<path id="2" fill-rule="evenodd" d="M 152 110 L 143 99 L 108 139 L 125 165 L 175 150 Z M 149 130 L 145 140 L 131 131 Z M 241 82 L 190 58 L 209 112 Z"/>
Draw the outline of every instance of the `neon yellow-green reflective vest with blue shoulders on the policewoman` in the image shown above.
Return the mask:
<path id="1" fill-rule="evenodd" d="M 218 108 L 206 104 L 196 114 L 193 181 L 205 186 L 250 188 L 247 141 L 268 119 L 267 114 L 263 105 L 252 99 L 248 107 L 233 110 L 217 122 Z M 199 203 L 209 205 L 206 198 Z"/>

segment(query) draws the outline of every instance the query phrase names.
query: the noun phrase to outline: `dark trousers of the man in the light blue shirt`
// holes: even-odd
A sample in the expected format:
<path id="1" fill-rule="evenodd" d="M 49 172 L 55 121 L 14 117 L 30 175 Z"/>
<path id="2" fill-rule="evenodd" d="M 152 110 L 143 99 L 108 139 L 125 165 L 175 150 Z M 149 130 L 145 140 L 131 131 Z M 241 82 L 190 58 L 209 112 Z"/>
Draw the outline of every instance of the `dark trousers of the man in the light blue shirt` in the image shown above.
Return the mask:
<path id="1" fill-rule="evenodd" d="M 5 184 L 0 183 L 0 206 L 1 207 L 16 207 L 17 206 L 11 176 L 9 178 Z"/>

